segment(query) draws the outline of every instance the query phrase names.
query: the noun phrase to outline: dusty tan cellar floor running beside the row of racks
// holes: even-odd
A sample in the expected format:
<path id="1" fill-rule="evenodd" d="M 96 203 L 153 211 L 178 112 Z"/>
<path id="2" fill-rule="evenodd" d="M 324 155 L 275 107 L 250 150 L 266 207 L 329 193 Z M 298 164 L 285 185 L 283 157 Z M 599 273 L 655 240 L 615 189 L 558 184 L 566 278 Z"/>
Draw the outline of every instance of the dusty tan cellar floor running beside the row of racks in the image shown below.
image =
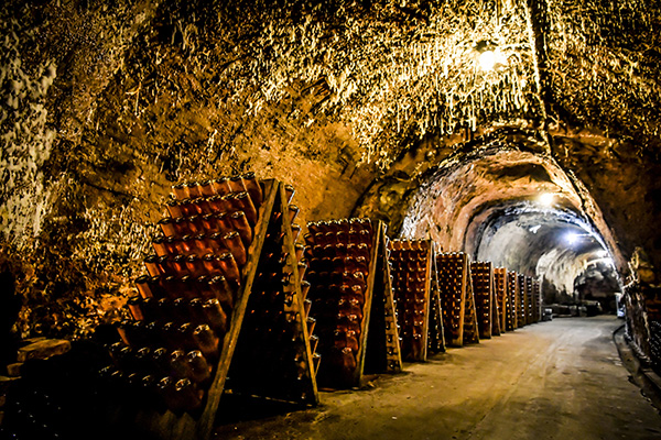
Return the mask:
<path id="1" fill-rule="evenodd" d="M 217 439 L 652 439 L 661 416 L 618 355 L 615 317 L 566 318 L 449 349 L 317 408 L 220 421 Z"/>

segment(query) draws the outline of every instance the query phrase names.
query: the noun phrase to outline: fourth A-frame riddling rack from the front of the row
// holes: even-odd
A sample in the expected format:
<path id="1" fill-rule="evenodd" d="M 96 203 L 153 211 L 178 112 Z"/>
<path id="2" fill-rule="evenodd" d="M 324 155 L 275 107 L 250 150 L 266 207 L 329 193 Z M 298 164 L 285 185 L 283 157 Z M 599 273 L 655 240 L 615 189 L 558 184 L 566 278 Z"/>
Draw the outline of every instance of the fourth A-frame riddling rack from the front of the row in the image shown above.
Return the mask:
<path id="1" fill-rule="evenodd" d="M 452 346 L 479 342 L 468 255 L 440 253 L 436 270 L 445 342 Z"/>

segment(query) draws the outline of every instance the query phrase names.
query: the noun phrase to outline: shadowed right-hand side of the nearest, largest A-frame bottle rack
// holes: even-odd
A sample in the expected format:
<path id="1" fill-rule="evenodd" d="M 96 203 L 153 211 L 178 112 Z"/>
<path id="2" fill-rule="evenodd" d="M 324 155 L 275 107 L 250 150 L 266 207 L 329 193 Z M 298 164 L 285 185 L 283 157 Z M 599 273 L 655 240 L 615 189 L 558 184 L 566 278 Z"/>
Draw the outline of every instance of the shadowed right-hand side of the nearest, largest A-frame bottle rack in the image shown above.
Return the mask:
<path id="1" fill-rule="evenodd" d="M 291 204 L 293 195 L 294 188 L 285 185 L 284 200 L 280 202 L 278 197 L 275 204 L 282 209 L 275 208 L 268 223 L 227 388 L 248 396 L 314 404 L 311 375 L 321 356 L 315 353 L 318 338 L 313 336 L 312 301 L 306 299 L 310 284 L 301 283 L 307 264 L 304 246 L 297 243 L 301 227 L 294 223 L 299 207 Z"/>

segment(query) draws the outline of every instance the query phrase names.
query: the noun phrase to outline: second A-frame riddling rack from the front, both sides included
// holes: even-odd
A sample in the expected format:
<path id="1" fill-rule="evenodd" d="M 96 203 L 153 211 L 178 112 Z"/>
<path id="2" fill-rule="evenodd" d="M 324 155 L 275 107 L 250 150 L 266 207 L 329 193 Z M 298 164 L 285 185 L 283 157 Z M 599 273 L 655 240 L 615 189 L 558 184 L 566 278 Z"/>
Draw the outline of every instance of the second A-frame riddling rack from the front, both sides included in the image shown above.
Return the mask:
<path id="1" fill-rule="evenodd" d="M 311 222 L 306 282 L 324 359 L 319 385 L 359 387 L 402 369 L 386 226 L 369 219 Z"/>

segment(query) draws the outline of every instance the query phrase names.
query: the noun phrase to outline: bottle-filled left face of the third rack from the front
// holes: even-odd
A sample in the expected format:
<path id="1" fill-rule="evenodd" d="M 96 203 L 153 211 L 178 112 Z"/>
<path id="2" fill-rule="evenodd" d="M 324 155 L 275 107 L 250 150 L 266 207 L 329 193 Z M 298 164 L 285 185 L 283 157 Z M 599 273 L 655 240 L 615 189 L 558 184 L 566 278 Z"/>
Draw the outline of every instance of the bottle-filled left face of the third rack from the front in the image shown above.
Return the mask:
<path id="1" fill-rule="evenodd" d="M 427 349 L 431 287 L 431 243 L 422 240 L 390 242 L 393 293 L 402 359 L 424 361 Z"/>

